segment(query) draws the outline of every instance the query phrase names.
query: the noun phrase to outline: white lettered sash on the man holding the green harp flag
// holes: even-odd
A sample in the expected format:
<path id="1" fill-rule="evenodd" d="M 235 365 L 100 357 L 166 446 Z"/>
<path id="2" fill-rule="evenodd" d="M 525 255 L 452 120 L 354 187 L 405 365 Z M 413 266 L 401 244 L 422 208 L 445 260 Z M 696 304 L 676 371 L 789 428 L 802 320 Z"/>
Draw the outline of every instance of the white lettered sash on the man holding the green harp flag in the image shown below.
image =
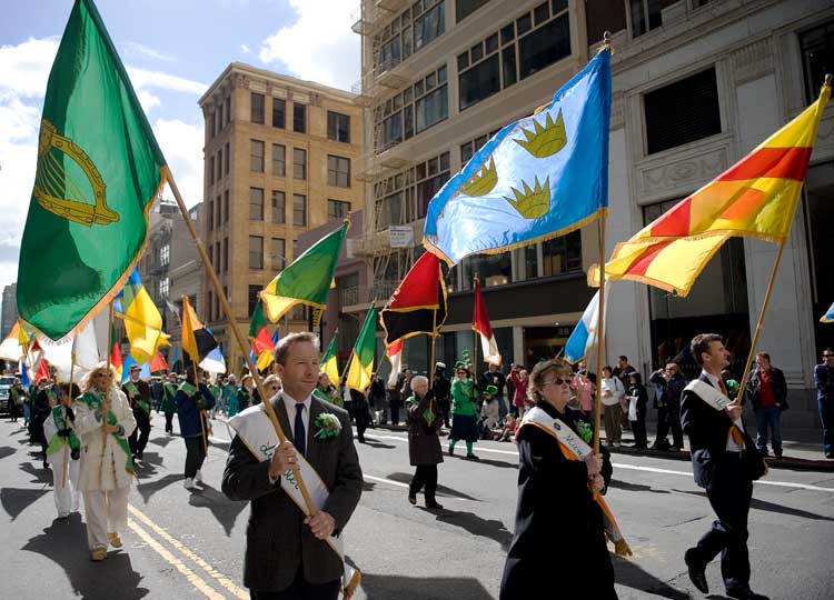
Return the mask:
<path id="1" fill-rule="evenodd" d="M 272 452 L 278 446 L 278 433 L 276 433 L 264 404 L 256 404 L 249 407 L 244 412 L 239 412 L 229 419 L 229 424 L 235 429 L 241 441 L 255 458 L 261 462 L 265 460 L 271 460 Z M 298 470 L 307 486 L 307 491 L 312 500 L 312 506 L 316 507 L 316 510 L 321 510 L 327 501 L 327 497 L 330 494 L 327 486 L 321 481 L 316 469 L 314 469 L 312 466 L 307 462 L 307 459 L 300 454 L 298 454 Z M 307 504 L 304 501 L 304 496 L 301 496 L 301 490 L 298 487 L 298 481 L 296 481 L 295 473 L 291 470 L 287 470 L 281 474 L 281 489 L 290 497 L 305 516 L 310 516 L 307 510 Z M 359 582 L 359 571 L 345 562 L 345 551 L 342 549 L 344 542 L 340 537 L 334 538 L 330 536 L 325 541 L 332 551 L 339 556 L 339 559 L 344 564 L 345 570 L 341 576 L 341 592 L 344 598 L 349 599 Z"/>

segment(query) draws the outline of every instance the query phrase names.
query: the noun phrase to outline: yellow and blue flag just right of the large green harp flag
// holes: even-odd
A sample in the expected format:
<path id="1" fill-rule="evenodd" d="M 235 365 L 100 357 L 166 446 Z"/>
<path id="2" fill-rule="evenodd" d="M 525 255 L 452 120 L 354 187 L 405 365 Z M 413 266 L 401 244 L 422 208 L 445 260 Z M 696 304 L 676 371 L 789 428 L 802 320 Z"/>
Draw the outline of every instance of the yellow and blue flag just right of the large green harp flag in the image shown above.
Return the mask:
<path id="1" fill-rule="evenodd" d="M 162 316 L 145 289 L 138 269 L 130 273 L 117 298 L 113 310 L 125 320 L 130 354 L 138 364 L 149 362 L 157 348 L 168 343 L 168 334 L 162 332 Z"/>

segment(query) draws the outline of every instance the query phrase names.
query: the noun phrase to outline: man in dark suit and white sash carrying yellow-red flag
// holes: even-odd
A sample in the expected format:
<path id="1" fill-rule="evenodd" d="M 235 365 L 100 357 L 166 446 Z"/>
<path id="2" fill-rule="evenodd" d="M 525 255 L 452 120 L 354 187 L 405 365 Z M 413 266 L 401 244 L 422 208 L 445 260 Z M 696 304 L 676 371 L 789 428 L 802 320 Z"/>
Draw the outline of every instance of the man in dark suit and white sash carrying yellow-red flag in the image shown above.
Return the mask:
<path id="1" fill-rule="evenodd" d="M 719 552 L 727 596 L 767 600 L 749 589 L 747 514 L 753 481 L 767 472 L 762 456 L 742 422 L 742 406 L 727 398 L 721 370 L 729 363 L 722 338 L 702 333 L 692 340 L 692 356 L 701 377 L 686 386 L 681 404 L 684 432 L 689 437 L 695 483 L 706 489 L 718 520 L 697 546 L 684 554 L 689 579 L 707 593 L 705 569 Z"/>

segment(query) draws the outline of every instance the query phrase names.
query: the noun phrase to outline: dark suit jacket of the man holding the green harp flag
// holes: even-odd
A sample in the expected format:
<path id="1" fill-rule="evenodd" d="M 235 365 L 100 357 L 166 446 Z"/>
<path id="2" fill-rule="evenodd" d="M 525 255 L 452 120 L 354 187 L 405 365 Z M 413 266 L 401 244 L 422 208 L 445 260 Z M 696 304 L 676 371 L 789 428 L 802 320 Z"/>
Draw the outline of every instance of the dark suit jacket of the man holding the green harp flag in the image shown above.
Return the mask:
<path id="1" fill-rule="evenodd" d="M 287 409 L 280 393 L 269 400 L 284 432 L 291 436 Z M 336 414 L 341 422 L 338 437 L 321 440 L 314 437 L 316 418 L 322 412 Z M 350 419 L 346 410 L 310 401 L 310 431 L 307 433 L 307 461 L 330 490 L 321 510 L 336 520 L 338 534 L 359 502 L 363 472 L 354 446 Z M 299 566 L 308 583 L 339 579 L 342 564 L 330 547 L 317 540 L 304 524 L 304 513 L 280 489 L 269 482 L 269 461 L 259 462 L 236 436 L 229 448 L 224 471 L 222 491 L 231 500 L 251 501 L 246 529 L 244 584 L 259 591 L 282 591 L 292 583 Z"/>

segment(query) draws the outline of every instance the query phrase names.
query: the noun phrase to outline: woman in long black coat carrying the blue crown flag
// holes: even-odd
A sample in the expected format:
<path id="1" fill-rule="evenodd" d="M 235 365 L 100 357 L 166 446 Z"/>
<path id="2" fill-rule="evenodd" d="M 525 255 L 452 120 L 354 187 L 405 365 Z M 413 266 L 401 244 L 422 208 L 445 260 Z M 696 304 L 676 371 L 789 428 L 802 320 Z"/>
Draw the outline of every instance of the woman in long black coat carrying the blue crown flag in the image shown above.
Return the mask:
<path id="1" fill-rule="evenodd" d="M 542 598 L 546 589 L 552 598 L 617 598 L 603 510 L 592 492 L 605 492 L 608 453 L 570 460 L 575 454 L 563 450 L 555 434 L 558 419 L 593 442 L 585 414 L 567 406 L 570 378 L 570 369 L 557 361 L 539 362 L 529 377 L 527 393 L 536 406 L 516 437 L 518 504 L 500 600 Z"/>

